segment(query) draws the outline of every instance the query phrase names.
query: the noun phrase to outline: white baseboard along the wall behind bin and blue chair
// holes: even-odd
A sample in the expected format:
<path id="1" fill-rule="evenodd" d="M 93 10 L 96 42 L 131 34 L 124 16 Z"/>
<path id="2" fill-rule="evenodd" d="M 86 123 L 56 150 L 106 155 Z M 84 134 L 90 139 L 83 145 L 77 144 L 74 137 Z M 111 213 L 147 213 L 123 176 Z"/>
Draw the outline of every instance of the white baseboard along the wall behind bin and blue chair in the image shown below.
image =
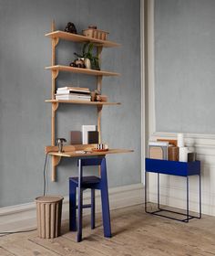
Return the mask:
<path id="1" fill-rule="evenodd" d="M 84 202 L 88 203 L 90 193 L 84 193 Z M 109 188 L 110 209 L 125 208 L 144 203 L 143 185 L 134 184 L 124 187 Z M 99 191 L 96 193 L 96 210 L 101 212 L 101 200 Z M 84 215 L 89 213 L 84 210 Z M 68 197 L 63 203 L 62 219 L 68 219 Z M 27 203 L 12 207 L 0 208 L 0 233 L 19 229 L 36 228 L 36 203 Z"/>

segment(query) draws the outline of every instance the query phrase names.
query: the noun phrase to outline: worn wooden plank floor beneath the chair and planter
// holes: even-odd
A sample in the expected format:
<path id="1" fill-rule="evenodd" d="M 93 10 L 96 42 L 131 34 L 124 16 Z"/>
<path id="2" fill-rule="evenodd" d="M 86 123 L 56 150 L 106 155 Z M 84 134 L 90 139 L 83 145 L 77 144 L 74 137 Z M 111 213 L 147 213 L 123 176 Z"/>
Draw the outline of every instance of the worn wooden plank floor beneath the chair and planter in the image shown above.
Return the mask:
<path id="1" fill-rule="evenodd" d="M 143 206 L 121 208 L 111 212 L 111 239 L 103 237 L 100 216 L 94 230 L 89 229 L 89 217 L 84 219 L 84 240 L 80 243 L 65 222 L 62 236 L 53 240 L 37 238 L 36 231 L 1 237 L 0 255 L 215 255 L 215 217 L 183 223 L 148 215 Z"/>

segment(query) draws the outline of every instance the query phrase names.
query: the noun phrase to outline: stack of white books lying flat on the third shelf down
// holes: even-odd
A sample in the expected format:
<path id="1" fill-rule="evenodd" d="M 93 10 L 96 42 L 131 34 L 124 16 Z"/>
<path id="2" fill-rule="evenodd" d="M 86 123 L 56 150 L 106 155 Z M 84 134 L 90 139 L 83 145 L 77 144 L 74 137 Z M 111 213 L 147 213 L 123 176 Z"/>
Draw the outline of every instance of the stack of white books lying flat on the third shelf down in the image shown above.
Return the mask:
<path id="1" fill-rule="evenodd" d="M 91 101 L 91 96 L 88 88 L 61 87 L 56 90 L 56 100 Z"/>

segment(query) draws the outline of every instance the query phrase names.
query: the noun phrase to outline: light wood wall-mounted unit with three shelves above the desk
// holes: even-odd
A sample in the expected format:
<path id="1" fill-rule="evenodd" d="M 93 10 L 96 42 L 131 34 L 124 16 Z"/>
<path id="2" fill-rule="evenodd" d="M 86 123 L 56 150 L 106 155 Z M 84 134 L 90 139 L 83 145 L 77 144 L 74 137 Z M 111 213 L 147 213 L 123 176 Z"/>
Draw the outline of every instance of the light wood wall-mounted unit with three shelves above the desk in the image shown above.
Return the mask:
<path id="1" fill-rule="evenodd" d="M 65 65 L 57 65 L 56 64 L 56 46 L 59 42 L 59 39 L 69 40 L 77 43 L 87 43 L 92 42 L 97 47 L 97 58 L 99 61 L 99 65 L 101 66 L 101 52 L 102 48 L 113 48 L 120 46 L 118 43 L 111 42 L 108 40 L 100 40 L 91 37 L 85 37 L 82 35 L 71 34 L 64 31 L 55 31 L 55 23 L 52 22 L 52 32 L 47 33 L 46 37 L 51 38 L 52 42 L 52 61 L 51 66 L 46 67 L 46 69 L 50 69 L 52 72 L 52 93 L 51 99 L 46 100 L 46 102 L 52 103 L 52 123 L 51 123 L 51 145 L 54 148 L 56 144 L 56 110 L 58 108 L 59 103 L 71 103 L 71 104 L 87 104 L 87 105 L 95 105 L 97 106 L 97 131 L 99 134 L 98 141 L 101 143 L 101 111 L 102 107 L 106 105 L 119 105 L 120 102 L 101 102 L 101 101 L 63 101 L 56 100 L 56 79 L 58 73 L 61 71 L 80 73 L 86 75 L 97 76 L 97 91 L 101 91 L 102 88 L 102 78 L 103 76 L 119 76 L 119 73 L 110 72 L 106 70 L 95 70 L 95 69 L 79 69 Z M 122 151 L 124 153 L 125 151 Z M 128 152 L 128 151 L 127 151 Z M 118 151 L 116 153 L 119 153 Z M 52 155 L 52 181 L 56 181 L 56 165 L 58 165 L 59 157 L 55 154 Z"/>

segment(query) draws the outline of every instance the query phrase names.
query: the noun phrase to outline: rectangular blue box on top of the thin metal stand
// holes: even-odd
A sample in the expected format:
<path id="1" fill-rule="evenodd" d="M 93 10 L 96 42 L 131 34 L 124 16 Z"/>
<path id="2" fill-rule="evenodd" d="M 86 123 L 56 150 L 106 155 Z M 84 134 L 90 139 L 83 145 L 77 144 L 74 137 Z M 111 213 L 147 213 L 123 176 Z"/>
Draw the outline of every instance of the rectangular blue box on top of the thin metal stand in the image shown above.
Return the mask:
<path id="1" fill-rule="evenodd" d="M 196 176 L 200 175 L 200 161 L 185 163 L 146 158 L 146 172 L 172 176 Z"/>

